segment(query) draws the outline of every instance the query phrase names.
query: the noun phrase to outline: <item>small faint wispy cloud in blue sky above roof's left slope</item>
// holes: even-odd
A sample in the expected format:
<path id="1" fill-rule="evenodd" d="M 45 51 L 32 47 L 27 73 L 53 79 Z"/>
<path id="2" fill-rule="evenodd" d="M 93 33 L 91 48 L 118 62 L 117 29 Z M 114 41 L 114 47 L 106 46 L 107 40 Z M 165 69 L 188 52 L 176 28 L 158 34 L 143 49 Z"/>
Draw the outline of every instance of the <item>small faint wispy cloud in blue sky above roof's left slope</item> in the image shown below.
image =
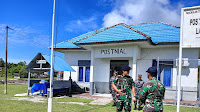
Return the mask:
<path id="1" fill-rule="evenodd" d="M 78 31 L 90 31 L 97 29 L 98 25 L 95 17 L 90 17 L 87 19 L 78 19 L 69 22 L 65 26 L 65 30 L 69 32 L 78 32 Z"/>

